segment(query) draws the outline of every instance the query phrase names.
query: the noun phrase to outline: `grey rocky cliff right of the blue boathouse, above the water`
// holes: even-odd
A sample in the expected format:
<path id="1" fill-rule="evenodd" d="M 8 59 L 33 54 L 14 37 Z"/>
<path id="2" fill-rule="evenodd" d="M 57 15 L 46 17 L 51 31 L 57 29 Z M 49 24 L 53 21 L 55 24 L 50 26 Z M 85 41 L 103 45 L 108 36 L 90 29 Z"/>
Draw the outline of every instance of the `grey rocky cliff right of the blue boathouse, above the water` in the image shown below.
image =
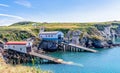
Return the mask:
<path id="1" fill-rule="evenodd" d="M 84 47 L 106 48 L 111 47 L 115 41 L 116 31 L 112 29 L 112 25 L 96 25 L 96 28 L 88 28 L 87 32 L 74 30 L 68 32 L 71 43 L 82 45 Z M 120 30 L 120 27 L 117 28 Z M 117 30 L 117 31 L 118 31 Z M 72 33 L 72 35 L 70 35 Z M 70 39 L 70 37 L 72 37 Z M 77 43 L 76 43 L 77 42 Z"/>

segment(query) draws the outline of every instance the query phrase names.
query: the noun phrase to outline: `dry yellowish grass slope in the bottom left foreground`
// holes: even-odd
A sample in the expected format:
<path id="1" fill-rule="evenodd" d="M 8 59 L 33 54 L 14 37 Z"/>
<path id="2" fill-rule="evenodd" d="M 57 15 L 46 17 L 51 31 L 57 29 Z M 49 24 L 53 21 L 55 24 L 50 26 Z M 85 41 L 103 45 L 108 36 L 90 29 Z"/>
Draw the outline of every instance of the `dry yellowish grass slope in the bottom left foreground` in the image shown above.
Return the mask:
<path id="1" fill-rule="evenodd" d="M 4 62 L 0 55 L 0 73 L 52 73 L 50 71 L 43 71 L 33 67 L 22 65 L 12 66 Z"/>

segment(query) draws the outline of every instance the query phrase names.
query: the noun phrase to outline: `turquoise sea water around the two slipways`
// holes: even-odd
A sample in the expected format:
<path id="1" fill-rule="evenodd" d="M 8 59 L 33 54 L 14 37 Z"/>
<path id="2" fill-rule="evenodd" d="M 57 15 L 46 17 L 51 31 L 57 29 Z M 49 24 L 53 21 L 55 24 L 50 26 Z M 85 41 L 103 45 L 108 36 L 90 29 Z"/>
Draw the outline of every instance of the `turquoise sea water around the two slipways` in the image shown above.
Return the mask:
<path id="1" fill-rule="evenodd" d="M 43 70 L 54 73 L 120 73 L 120 47 L 98 49 L 98 53 L 89 52 L 55 52 L 49 55 L 84 65 L 73 66 L 64 64 L 36 65 Z"/>

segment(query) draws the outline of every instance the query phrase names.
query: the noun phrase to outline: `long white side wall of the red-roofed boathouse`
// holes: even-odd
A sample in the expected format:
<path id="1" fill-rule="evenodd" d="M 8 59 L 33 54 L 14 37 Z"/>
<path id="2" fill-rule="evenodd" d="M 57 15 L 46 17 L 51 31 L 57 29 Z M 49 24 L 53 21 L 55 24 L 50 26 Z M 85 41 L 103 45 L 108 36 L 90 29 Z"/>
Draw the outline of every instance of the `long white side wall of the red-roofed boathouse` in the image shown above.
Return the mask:
<path id="1" fill-rule="evenodd" d="M 27 53 L 26 45 L 5 45 L 4 49 L 12 49 L 22 53 Z"/>

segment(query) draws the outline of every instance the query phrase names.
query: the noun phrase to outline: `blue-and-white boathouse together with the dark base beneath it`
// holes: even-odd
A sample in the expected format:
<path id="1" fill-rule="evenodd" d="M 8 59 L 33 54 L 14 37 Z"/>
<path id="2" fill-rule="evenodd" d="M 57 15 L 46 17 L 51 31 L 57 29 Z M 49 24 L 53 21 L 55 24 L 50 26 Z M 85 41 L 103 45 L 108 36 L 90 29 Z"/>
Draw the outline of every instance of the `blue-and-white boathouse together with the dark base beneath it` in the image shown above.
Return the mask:
<path id="1" fill-rule="evenodd" d="M 41 31 L 39 38 L 42 40 L 38 49 L 46 51 L 55 51 L 63 41 L 64 34 L 61 31 Z"/>

